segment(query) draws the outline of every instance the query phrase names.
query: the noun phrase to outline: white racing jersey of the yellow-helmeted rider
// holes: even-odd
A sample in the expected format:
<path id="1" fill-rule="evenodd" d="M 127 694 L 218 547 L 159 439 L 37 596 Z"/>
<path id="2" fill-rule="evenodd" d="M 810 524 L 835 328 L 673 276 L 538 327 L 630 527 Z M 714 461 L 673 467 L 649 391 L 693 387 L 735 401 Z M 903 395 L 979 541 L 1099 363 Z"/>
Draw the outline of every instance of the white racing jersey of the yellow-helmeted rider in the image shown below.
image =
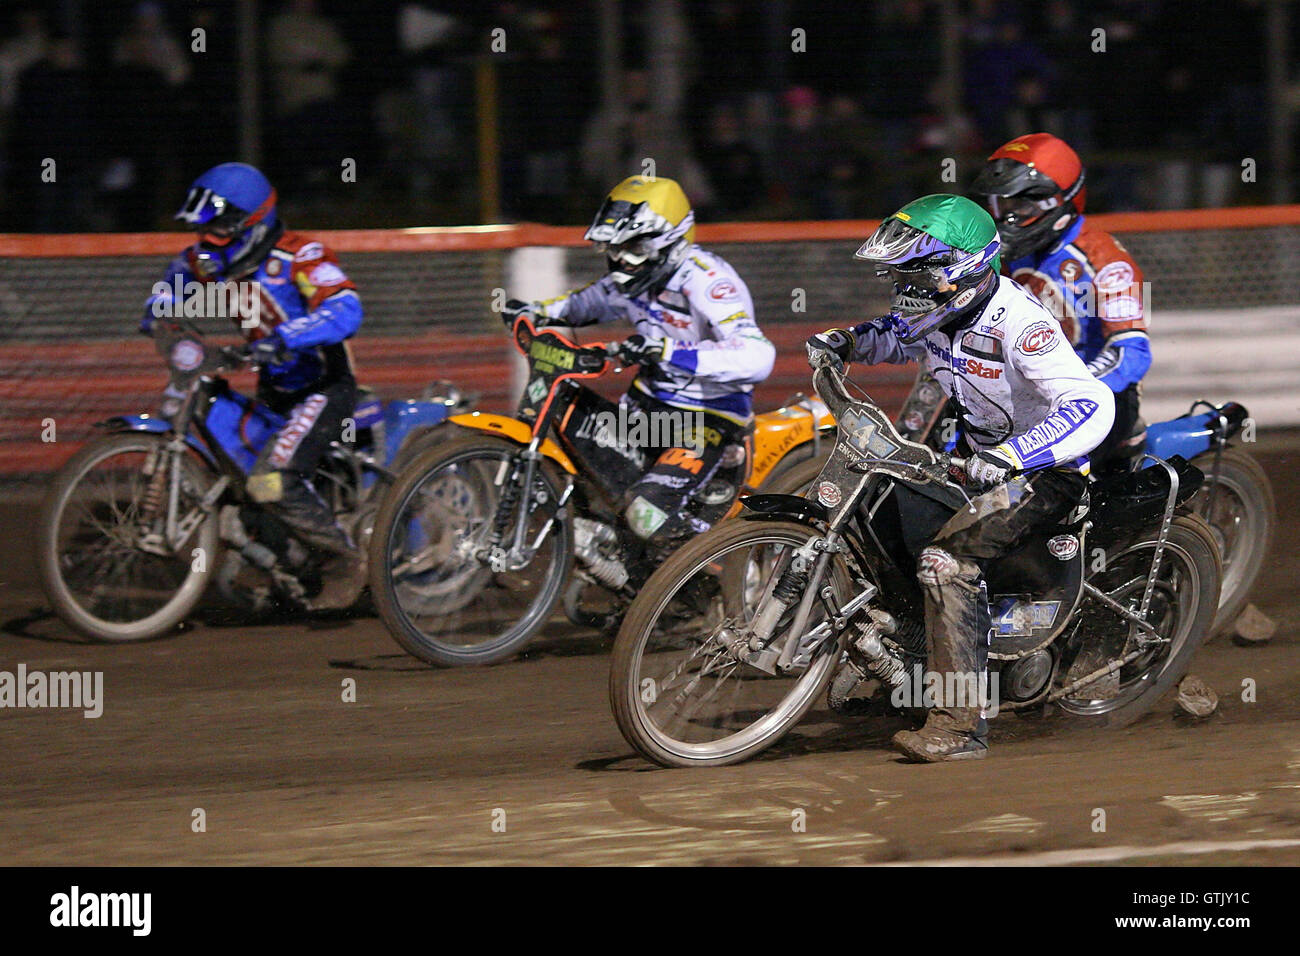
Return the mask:
<path id="1" fill-rule="evenodd" d="M 738 424 L 753 418 L 753 392 L 767 378 L 776 349 L 754 321 L 754 303 L 736 271 L 692 246 L 658 291 L 628 297 L 608 276 L 547 302 L 538 312 L 567 325 L 628 319 L 663 359 L 632 382 L 679 408 L 707 410 Z"/>

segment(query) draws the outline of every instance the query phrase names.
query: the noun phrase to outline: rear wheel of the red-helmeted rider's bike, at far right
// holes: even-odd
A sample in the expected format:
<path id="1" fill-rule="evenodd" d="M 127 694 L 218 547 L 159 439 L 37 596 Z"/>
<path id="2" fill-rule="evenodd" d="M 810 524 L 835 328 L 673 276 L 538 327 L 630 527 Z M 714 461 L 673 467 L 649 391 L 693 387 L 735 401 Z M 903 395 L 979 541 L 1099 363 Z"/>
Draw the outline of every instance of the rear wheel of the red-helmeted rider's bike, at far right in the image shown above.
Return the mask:
<path id="1" fill-rule="evenodd" d="M 1225 451 L 1217 477 L 1213 454 L 1197 458 L 1196 464 L 1205 472 L 1205 485 L 1192 499 L 1192 507 L 1210 527 L 1223 558 L 1223 589 L 1214 620 L 1214 631 L 1223 631 L 1236 620 L 1251 596 L 1273 542 L 1277 510 L 1269 477 L 1249 455 Z"/>

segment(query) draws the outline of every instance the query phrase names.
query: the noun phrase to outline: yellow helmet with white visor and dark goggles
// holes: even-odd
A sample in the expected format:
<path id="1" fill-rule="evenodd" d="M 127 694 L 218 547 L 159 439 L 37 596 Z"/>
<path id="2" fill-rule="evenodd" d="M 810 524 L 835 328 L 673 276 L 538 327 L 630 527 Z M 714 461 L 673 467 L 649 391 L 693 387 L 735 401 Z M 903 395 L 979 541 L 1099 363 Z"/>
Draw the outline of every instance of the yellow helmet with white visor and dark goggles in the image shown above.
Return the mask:
<path id="1" fill-rule="evenodd" d="M 696 213 L 676 179 L 630 176 L 601 203 L 584 237 L 610 260 L 610 276 L 637 295 L 672 274 L 696 241 Z"/>

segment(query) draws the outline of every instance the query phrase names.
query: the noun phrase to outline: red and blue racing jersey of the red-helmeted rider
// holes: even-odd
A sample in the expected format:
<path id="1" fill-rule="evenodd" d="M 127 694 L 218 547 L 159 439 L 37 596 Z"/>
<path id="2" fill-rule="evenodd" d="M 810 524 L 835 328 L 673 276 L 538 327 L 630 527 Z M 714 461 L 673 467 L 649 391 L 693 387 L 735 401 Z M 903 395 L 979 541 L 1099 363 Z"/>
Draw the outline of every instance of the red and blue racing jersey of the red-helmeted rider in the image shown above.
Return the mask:
<path id="1" fill-rule="evenodd" d="M 1061 323 L 1088 369 L 1112 392 L 1141 381 L 1150 368 L 1143 274 L 1109 233 L 1080 216 L 1046 252 L 1008 263 Z"/>

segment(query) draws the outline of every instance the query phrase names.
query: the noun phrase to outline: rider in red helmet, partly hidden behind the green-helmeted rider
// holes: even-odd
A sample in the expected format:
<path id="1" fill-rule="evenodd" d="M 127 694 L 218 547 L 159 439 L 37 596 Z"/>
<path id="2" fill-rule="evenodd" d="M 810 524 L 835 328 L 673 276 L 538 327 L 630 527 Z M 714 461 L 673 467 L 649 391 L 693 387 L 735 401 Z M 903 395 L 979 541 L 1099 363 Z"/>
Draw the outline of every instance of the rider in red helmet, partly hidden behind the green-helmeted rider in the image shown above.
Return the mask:
<path id="1" fill-rule="evenodd" d="M 1091 458 L 1141 450 L 1141 378 L 1150 368 L 1143 273 L 1083 215 L 1084 169 L 1063 140 L 1030 133 L 1000 146 L 975 178 L 1002 239 L 1006 273 L 1041 299 L 1088 371 L 1115 394 L 1115 424 Z"/>

